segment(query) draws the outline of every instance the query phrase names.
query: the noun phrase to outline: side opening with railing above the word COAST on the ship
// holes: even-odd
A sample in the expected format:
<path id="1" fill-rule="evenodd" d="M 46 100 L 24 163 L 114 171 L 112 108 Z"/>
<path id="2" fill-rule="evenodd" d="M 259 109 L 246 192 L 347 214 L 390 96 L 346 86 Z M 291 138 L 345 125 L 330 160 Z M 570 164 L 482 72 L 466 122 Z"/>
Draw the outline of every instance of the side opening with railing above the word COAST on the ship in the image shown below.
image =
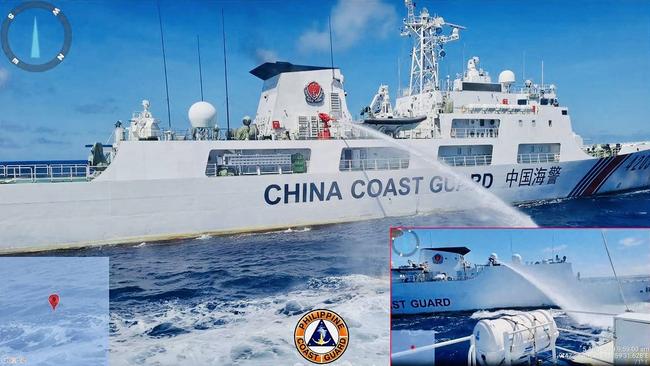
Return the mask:
<path id="1" fill-rule="evenodd" d="M 409 153 L 392 147 L 353 147 L 341 151 L 339 170 L 408 169 Z"/>

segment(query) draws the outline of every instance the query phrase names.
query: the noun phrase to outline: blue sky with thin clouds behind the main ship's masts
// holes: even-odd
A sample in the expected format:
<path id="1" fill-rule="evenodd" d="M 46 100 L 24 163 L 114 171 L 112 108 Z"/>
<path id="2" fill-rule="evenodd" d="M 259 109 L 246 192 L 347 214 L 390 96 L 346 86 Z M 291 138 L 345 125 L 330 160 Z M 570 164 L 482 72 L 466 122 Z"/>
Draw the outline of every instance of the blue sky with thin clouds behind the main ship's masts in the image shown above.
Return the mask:
<path id="1" fill-rule="evenodd" d="M 0 0 L 0 13 L 20 2 Z M 128 120 L 149 99 L 168 123 L 156 2 L 53 0 L 70 20 L 72 48 L 42 73 L 23 71 L 0 54 L 0 161 L 83 159 L 84 145 L 108 142 L 116 120 Z M 225 16 L 231 126 L 255 115 L 261 80 L 249 71 L 265 61 L 330 64 L 345 75 L 353 115 L 379 84 L 395 95 L 408 83 L 408 38 L 400 37 L 402 0 L 160 0 L 167 53 L 171 124 L 189 125 L 200 100 L 196 37 L 201 38 L 205 100 L 226 125 L 221 9 Z M 650 139 L 650 2 L 420 0 L 467 30 L 446 46 L 442 75 L 462 71 L 471 56 L 496 76 L 503 69 L 557 85 L 574 129 L 590 142 Z M 56 49 L 62 31 L 45 12 L 19 17 L 10 43 L 29 56 L 33 18 L 41 56 Z M 398 73 L 398 65 L 401 65 Z M 398 80 L 398 75 L 401 79 Z"/>

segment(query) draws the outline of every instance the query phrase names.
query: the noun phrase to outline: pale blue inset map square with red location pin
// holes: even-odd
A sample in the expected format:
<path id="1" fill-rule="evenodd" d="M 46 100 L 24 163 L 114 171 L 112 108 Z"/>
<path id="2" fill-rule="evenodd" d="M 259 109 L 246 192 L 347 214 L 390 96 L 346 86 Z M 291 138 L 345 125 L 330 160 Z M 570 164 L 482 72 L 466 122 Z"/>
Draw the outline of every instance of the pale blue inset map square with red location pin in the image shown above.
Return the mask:
<path id="1" fill-rule="evenodd" d="M 0 257 L 0 365 L 108 365 L 108 274 L 104 257 Z"/>

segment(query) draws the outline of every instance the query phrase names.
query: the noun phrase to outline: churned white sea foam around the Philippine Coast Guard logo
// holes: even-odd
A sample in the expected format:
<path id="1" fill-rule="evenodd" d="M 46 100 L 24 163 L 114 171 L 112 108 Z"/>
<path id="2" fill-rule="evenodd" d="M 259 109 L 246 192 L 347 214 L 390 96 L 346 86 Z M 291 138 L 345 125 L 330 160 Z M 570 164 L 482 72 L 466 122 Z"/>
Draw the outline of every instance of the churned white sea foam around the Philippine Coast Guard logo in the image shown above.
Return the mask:
<path id="1" fill-rule="evenodd" d="M 234 304 L 186 306 L 168 302 L 134 317 L 112 314 L 111 363 L 116 365 L 311 365 L 293 344 L 299 318 L 310 309 L 341 315 L 350 345 L 337 365 L 388 363 L 388 279 L 363 275 L 311 280 L 307 289 Z M 156 325 L 190 333 L 153 338 Z M 215 325 L 217 324 L 217 325 Z M 206 330 L 196 326 L 209 325 Z"/>

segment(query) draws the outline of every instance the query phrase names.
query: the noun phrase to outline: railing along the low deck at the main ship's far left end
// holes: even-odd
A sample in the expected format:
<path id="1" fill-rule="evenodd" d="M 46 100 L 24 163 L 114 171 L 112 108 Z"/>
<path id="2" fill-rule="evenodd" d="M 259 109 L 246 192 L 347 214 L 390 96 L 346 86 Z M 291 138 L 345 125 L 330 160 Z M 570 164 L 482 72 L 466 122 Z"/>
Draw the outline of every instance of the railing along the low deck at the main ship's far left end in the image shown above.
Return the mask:
<path id="1" fill-rule="evenodd" d="M 88 164 L 0 165 L 1 183 L 88 181 L 106 166 Z"/>

